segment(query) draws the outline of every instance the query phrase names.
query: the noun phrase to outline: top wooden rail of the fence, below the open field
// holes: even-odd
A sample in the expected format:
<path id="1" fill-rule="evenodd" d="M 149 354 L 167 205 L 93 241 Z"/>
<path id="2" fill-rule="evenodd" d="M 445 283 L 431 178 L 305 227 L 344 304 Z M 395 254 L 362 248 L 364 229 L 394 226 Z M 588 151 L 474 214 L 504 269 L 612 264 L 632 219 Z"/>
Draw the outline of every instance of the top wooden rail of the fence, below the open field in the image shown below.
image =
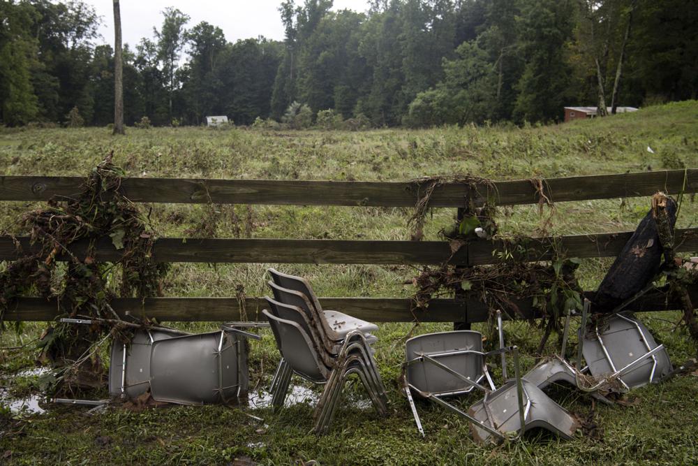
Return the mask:
<path id="1" fill-rule="evenodd" d="M 649 196 L 698 192 L 698 169 L 590 175 L 540 180 L 498 181 L 491 184 L 444 182 L 434 189 L 431 207 L 463 207 L 466 198 L 482 205 L 530 204 L 544 194 L 550 201 Z M 80 193 L 82 177 L 3 176 L 0 201 L 47 201 L 53 196 Z M 424 194 L 419 182 L 205 180 L 188 178 L 131 178 L 122 180 L 121 192 L 139 203 L 216 203 L 268 205 L 370 205 L 414 207 Z"/>

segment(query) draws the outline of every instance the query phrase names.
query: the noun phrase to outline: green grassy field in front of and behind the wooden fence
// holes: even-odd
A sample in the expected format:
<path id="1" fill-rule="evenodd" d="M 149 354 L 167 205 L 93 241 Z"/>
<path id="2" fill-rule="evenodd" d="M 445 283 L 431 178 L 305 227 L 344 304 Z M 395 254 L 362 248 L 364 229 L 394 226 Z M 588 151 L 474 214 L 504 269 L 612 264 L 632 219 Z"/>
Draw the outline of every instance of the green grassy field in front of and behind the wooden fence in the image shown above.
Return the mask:
<path id="1" fill-rule="evenodd" d="M 409 180 L 470 173 L 493 180 L 698 167 L 698 102 L 651 107 L 608 119 L 557 126 L 466 127 L 422 131 L 366 132 L 248 129 L 129 129 L 125 137 L 107 129 L 0 129 L 0 173 L 85 175 L 114 151 L 114 162 L 131 176 L 223 177 L 299 180 Z M 16 221 L 33 203 L 0 203 L 0 231 L 22 233 Z M 244 205 L 151 205 L 161 235 L 219 238 L 332 238 L 402 240 L 409 236 L 406 208 Z M 540 214 L 537 206 L 500 208 L 502 235 L 583 234 L 634 229 L 649 208 L 648 198 L 558 203 Z M 450 226 L 453 209 L 433 210 L 426 239 Z M 698 203 L 684 199 L 678 226 L 698 224 Z M 594 289 L 608 259 L 586 259 L 581 284 Z M 174 264 L 165 279 L 167 296 L 234 296 L 242 284 L 248 296 L 263 296 L 265 269 L 273 264 Z M 1 267 L 2 265 L 0 265 Z M 320 296 L 408 297 L 405 284 L 417 270 L 406 266 L 279 265 L 310 279 Z M 675 364 L 694 357 L 697 346 L 678 314 L 641 315 Z M 203 331 L 216 323 L 173 324 Z M 0 335 L 0 386 L 4 401 L 39 393 L 31 344 L 44 325 L 25 323 Z M 633 391 L 623 405 L 594 406 L 577 391 L 556 387 L 551 396 L 597 423 L 597 435 L 563 442 L 532 432 L 497 447 L 479 446 L 468 423 L 433 405 L 421 404 L 426 439 L 418 436 L 397 378 L 403 337 L 412 324 L 380 326 L 376 358 L 388 389 L 391 416 L 363 408 L 364 393 L 350 386 L 352 401 L 341 409 L 329 435 L 309 434 L 313 401 L 278 414 L 271 409 L 228 407 L 112 407 L 86 409 L 42 405 L 46 412 L 0 407 L 0 463 L 7 464 L 226 464 L 251 458 L 261 464 L 676 464 L 698 461 L 698 379 L 695 374 Z M 415 334 L 447 330 L 450 324 L 422 324 Z M 475 326 L 487 331 L 487 325 Z M 507 339 L 523 354 L 535 350 L 540 330 L 509 323 Z M 573 339 L 574 340 L 574 339 Z M 551 338 L 546 351 L 556 350 Z M 107 351 L 107 348 L 103 351 Z M 251 345 L 255 393 L 268 386 L 279 355 L 270 335 Z M 533 358 L 523 358 L 533 365 Z M 294 383 L 299 382 L 295 379 Z M 317 395 L 318 391 L 309 391 Z M 463 407 L 477 400 L 464 398 Z M 312 396 L 311 396 L 312 398 Z M 247 414 L 263 418 L 255 421 Z"/>

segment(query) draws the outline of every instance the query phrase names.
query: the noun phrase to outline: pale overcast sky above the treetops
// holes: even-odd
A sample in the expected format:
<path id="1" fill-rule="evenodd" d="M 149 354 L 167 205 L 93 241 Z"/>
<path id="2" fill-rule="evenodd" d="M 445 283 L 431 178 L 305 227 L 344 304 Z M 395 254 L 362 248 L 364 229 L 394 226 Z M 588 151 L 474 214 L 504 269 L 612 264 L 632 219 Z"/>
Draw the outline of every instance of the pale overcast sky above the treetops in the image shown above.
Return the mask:
<path id="1" fill-rule="evenodd" d="M 102 17 L 100 32 L 106 43 L 114 43 L 114 13 L 111 0 L 85 0 Z M 191 17 L 187 26 L 207 21 L 223 29 L 230 42 L 265 36 L 282 40 L 283 25 L 279 16 L 281 0 L 121 0 L 121 34 L 131 49 L 142 37 L 151 38 L 153 27 L 161 26 L 161 11 L 168 6 L 179 8 Z M 296 3 L 303 3 L 297 0 Z M 334 0 L 333 10 L 349 8 L 359 12 L 368 9 L 366 0 Z"/>

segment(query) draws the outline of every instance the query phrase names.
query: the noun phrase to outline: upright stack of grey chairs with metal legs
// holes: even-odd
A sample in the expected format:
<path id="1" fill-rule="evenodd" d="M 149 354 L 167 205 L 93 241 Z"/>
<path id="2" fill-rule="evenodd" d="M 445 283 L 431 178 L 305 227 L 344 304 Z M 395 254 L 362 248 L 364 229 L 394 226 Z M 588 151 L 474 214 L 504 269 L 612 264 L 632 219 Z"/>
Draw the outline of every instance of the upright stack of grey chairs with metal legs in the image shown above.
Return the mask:
<path id="1" fill-rule="evenodd" d="M 288 392 L 292 374 L 324 384 L 315 408 L 314 432 L 327 432 L 350 374 L 357 374 L 373 407 L 387 415 L 387 396 L 373 359 L 369 332 L 378 327 L 336 311 L 322 310 L 310 284 L 302 277 L 269 269 L 274 298 L 263 314 L 269 320 L 281 362 L 272 380 L 272 405 L 279 409 Z"/>

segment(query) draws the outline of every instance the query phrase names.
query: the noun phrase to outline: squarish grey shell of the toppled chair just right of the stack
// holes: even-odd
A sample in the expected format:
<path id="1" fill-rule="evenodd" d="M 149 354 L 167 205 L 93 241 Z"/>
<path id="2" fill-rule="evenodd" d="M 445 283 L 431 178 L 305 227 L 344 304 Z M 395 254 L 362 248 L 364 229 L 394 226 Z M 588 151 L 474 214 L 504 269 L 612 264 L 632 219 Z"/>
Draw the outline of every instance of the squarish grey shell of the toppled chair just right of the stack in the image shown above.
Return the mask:
<path id="1" fill-rule="evenodd" d="M 448 355 L 449 352 L 459 350 L 482 352 L 482 333 L 474 330 L 456 330 L 427 333 L 410 338 L 406 342 L 406 361 L 412 361 L 419 357 L 419 353 L 428 354 L 463 377 L 479 381 L 483 375 L 483 356 L 480 354 Z M 439 393 L 463 393 L 472 387 L 429 361 L 417 361 L 408 365 L 407 379 L 419 391 L 435 395 Z"/>

